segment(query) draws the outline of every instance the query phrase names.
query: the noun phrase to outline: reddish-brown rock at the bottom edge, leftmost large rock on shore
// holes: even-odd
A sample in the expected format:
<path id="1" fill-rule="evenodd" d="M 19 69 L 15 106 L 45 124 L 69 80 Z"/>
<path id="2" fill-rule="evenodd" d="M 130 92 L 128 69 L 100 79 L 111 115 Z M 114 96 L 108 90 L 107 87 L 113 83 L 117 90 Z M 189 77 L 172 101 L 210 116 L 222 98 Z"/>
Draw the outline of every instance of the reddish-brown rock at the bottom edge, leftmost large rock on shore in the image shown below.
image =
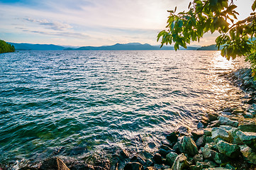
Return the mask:
<path id="1" fill-rule="evenodd" d="M 69 170 L 69 168 L 58 157 L 46 159 L 40 166 L 40 170 Z"/>

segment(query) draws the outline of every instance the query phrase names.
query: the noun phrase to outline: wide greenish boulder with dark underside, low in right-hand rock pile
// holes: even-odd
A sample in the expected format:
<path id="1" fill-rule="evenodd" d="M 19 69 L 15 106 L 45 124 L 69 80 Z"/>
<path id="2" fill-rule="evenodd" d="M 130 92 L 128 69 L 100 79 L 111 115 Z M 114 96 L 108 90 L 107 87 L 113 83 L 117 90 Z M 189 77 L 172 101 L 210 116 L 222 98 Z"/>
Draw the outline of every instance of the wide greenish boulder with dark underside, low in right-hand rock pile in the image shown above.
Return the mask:
<path id="1" fill-rule="evenodd" d="M 216 146 L 218 148 L 218 152 L 225 154 L 230 158 L 236 158 L 240 155 L 240 147 L 238 147 L 238 145 L 230 144 L 220 140 Z"/>

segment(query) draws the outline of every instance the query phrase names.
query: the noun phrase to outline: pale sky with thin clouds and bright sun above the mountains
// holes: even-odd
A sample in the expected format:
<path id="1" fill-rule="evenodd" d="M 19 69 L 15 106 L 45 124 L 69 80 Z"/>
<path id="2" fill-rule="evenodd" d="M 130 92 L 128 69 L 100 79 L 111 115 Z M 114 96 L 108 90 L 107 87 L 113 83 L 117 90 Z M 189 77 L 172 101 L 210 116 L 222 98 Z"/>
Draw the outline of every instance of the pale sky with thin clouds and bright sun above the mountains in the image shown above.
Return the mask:
<path id="1" fill-rule="evenodd" d="M 253 0 L 234 0 L 238 19 Z M 7 42 L 101 46 L 140 42 L 159 45 L 167 10 L 187 10 L 189 0 L 0 0 L 0 39 Z M 191 45 L 211 45 L 207 33 Z"/>

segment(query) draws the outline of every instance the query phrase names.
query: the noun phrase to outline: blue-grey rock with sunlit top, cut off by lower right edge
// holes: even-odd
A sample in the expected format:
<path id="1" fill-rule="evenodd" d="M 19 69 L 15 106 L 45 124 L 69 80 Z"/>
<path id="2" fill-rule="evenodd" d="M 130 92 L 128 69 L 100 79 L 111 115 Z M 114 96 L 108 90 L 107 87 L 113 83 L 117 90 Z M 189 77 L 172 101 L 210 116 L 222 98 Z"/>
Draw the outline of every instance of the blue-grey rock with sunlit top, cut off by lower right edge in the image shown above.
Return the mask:
<path id="1" fill-rule="evenodd" d="M 242 132 L 238 130 L 238 132 L 236 132 L 236 135 L 238 135 L 239 139 L 245 145 L 256 151 L 256 132 Z"/>

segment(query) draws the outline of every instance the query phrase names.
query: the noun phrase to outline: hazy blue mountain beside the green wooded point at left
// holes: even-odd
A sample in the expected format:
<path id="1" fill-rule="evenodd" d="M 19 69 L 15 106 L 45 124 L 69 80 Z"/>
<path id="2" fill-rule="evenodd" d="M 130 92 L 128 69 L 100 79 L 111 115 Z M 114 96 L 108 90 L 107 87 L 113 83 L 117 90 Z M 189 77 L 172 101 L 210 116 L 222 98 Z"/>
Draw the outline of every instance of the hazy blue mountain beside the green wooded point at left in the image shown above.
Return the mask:
<path id="1" fill-rule="evenodd" d="M 15 50 L 64 50 L 60 45 L 28 44 L 8 42 L 15 47 Z"/>

